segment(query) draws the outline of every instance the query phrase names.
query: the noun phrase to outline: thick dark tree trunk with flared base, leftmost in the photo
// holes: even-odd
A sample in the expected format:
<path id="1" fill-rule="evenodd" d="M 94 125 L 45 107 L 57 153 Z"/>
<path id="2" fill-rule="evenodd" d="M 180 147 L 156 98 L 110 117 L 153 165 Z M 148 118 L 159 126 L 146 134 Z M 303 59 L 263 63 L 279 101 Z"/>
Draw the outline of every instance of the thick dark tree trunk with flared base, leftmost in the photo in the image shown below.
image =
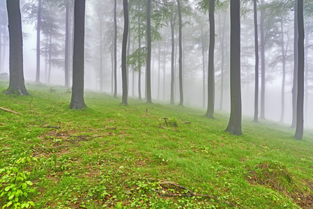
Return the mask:
<path id="1" fill-rule="evenodd" d="M 20 0 L 7 0 L 10 38 L 10 84 L 6 94 L 29 95 L 24 84 Z"/>

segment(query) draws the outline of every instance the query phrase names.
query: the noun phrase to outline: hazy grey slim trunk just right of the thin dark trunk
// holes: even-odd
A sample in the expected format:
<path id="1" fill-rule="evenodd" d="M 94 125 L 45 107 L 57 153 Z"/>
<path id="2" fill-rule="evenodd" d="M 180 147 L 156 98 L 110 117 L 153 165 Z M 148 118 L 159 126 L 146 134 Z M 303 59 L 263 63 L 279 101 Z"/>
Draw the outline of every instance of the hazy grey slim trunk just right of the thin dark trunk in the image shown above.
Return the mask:
<path id="1" fill-rule="evenodd" d="M 264 0 L 261 0 L 261 6 Z M 261 33 L 261 112 L 260 118 L 265 119 L 265 41 L 264 41 L 264 9 L 261 10 L 260 17 L 260 33 Z"/>

